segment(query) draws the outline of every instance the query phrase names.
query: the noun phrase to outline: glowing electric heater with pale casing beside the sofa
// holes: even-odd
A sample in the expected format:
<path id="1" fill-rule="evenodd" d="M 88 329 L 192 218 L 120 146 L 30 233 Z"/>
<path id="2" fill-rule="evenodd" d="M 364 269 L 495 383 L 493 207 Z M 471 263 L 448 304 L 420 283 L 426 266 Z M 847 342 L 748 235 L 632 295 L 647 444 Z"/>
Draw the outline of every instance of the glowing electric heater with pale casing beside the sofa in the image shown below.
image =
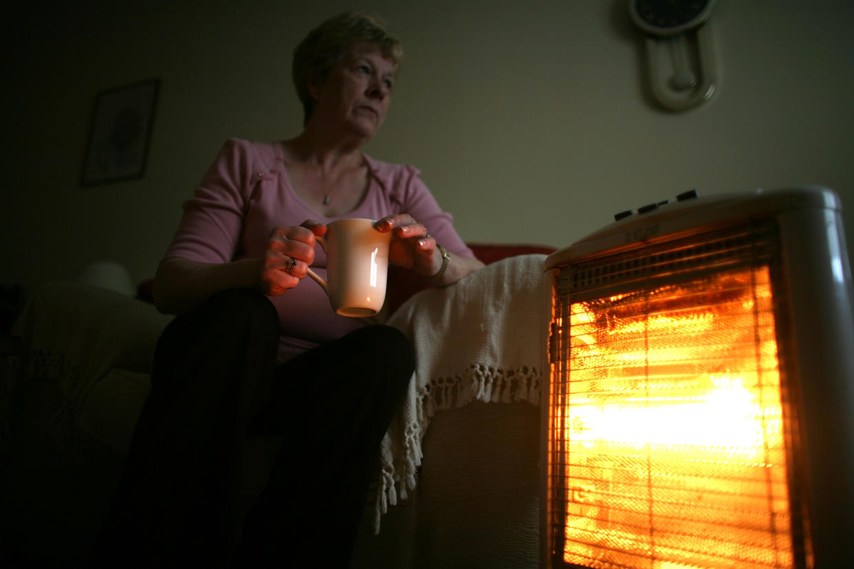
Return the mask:
<path id="1" fill-rule="evenodd" d="M 817 187 L 623 212 L 547 258 L 541 565 L 854 566 L 854 321 Z"/>

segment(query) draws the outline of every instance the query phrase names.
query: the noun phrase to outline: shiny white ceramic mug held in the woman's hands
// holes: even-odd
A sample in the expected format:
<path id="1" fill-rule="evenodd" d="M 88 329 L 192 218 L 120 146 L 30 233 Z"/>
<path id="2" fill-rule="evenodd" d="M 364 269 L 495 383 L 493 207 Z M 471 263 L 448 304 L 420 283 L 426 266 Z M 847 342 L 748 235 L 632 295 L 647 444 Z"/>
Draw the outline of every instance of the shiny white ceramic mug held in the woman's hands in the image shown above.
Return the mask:
<path id="1" fill-rule="evenodd" d="M 391 232 L 373 228 L 373 219 L 339 219 L 318 237 L 326 253 L 326 281 L 308 270 L 342 316 L 374 316 L 383 308 Z"/>

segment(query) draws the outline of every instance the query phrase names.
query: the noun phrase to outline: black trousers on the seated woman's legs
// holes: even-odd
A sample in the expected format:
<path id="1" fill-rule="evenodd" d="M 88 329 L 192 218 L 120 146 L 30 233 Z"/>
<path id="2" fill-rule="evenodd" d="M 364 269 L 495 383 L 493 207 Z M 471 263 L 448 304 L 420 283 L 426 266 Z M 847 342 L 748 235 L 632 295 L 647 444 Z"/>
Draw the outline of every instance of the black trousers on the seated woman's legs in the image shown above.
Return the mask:
<path id="1" fill-rule="evenodd" d="M 235 289 L 164 330 L 91 566 L 348 566 L 412 346 L 369 326 L 277 366 L 278 326 L 263 295 Z M 252 433 L 284 444 L 235 538 Z"/>

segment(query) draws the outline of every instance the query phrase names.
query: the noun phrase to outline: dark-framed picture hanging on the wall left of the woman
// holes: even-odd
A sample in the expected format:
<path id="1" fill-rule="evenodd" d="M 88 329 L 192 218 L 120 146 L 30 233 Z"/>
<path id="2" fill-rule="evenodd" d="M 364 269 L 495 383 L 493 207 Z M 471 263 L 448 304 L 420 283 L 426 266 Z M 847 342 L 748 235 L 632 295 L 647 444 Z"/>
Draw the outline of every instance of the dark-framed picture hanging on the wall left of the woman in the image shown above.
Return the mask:
<path id="1" fill-rule="evenodd" d="M 97 94 L 83 185 L 143 177 L 159 87 L 154 78 Z"/>

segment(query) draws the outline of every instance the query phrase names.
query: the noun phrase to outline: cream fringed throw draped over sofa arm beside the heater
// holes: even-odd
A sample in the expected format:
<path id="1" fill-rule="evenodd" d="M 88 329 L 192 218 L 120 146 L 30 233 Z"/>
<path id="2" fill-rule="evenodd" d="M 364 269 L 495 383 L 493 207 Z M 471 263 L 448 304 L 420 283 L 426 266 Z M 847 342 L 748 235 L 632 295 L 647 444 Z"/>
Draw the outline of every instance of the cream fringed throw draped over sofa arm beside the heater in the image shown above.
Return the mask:
<path id="1" fill-rule="evenodd" d="M 545 255 L 489 264 L 414 295 L 389 318 L 415 346 L 409 392 L 381 450 L 375 531 L 416 485 L 421 441 L 439 409 L 472 401 L 540 404 L 547 327 Z"/>

